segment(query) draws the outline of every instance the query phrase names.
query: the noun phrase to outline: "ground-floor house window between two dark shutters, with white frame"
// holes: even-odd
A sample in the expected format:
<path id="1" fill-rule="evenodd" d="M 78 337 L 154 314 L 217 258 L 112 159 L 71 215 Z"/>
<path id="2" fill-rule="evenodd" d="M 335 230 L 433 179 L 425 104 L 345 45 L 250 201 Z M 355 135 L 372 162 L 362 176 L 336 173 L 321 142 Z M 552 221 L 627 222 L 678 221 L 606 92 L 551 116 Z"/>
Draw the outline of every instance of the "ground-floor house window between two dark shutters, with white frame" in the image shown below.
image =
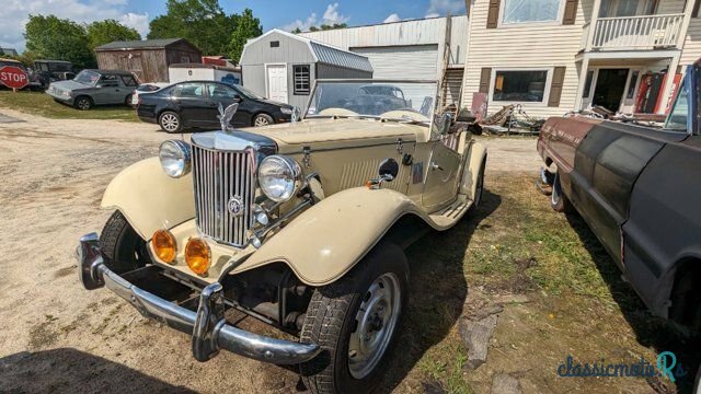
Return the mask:
<path id="1" fill-rule="evenodd" d="M 496 71 L 492 101 L 542 103 L 548 70 Z"/>

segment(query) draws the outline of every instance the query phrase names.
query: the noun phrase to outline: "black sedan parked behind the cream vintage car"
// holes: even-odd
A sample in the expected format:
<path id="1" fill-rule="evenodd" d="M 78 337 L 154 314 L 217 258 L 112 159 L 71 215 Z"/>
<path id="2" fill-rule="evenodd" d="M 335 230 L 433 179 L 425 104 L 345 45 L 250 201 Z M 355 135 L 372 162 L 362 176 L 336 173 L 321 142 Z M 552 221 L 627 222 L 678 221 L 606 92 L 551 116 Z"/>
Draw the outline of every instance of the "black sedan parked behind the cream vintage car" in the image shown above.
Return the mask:
<path id="1" fill-rule="evenodd" d="M 183 128 L 220 129 L 219 106 L 239 103 L 231 125 L 267 126 L 290 121 L 291 105 L 277 103 L 240 85 L 212 81 L 187 81 L 140 94 L 137 114 L 143 121 L 156 123 L 165 132 Z"/>

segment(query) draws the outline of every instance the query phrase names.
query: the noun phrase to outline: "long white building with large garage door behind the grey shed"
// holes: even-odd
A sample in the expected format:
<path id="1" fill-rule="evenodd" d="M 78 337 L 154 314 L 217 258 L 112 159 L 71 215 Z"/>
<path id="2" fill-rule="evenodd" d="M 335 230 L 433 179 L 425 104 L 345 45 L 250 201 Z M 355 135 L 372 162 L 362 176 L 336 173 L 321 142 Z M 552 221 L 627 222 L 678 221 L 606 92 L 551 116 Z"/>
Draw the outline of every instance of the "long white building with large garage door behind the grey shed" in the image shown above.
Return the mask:
<path id="1" fill-rule="evenodd" d="M 459 102 L 467 51 L 468 18 L 421 20 L 306 32 L 302 37 L 370 59 L 375 79 L 439 80 L 448 43 L 447 84 L 443 104 Z"/>

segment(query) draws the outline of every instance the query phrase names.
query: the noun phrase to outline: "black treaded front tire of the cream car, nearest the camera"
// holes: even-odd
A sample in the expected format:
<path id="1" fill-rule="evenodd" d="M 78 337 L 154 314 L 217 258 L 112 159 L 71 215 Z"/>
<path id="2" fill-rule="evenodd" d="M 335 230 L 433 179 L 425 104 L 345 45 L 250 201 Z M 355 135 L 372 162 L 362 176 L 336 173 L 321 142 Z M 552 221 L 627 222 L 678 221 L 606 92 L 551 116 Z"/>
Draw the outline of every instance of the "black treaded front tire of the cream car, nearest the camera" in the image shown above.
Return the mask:
<path id="1" fill-rule="evenodd" d="M 390 279 L 384 287 L 377 285 L 378 281 L 382 283 L 382 278 Z M 399 289 L 399 297 L 391 297 L 392 301 L 389 303 L 375 302 L 378 300 L 376 294 L 392 293 L 394 288 Z M 378 289 L 386 290 L 383 292 Z M 319 344 L 322 351 L 311 361 L 300 364 L 300 373 L 307 389 L 315 394 L 370 392 L 382 376 L 388 355 L 391 354 L 397 341 L 406 308 L 407 292 L 406 256 L 394 244 L 378 245 L 345 277 L 315 289 L 307 310 L 300 340 L 307 344 Z M 392 304 L 394 300 L 399 300 L 400 306 L 388 309 L 390 317 L 386 318 L 388 314 L 384 312 L 384 305 Z M 366 310 L 360 310 L 365 302 L 371 303 L 366 304 Z M 382 305 L 382 308 L 368 308 L 368 305 Z M 376 310 L 382 315 L 375 313 L 372 317 L 364 318 L 364 322 L 369 323 L 358 323 L 357 317 L 360 313 L 371 314 Z M 395 317 L 392 317 L 394 315 Z M 365 335 L 360 333 L 361 326 L 369 327 Z M 382 328 L 390 331 L 383 334 Z M 379 346 L 381 350 L 378 349 L 378 352 L 374 354 L 376 355 L 371 357 L 374 361 L 366 367 L 368 369 L 366 372 L 358 372 L 358 366 L 355 366 L 356 371 L 352 372 L 349 341 L 354 335 L 355 338 L 365 338 L 361 340 L 370 344 L 376 340 L 386 344 L 383 347 Z M 357 351 L 355 355 L 358 357 Z M 358 373 L 364 374 L 357 375 Z"/>

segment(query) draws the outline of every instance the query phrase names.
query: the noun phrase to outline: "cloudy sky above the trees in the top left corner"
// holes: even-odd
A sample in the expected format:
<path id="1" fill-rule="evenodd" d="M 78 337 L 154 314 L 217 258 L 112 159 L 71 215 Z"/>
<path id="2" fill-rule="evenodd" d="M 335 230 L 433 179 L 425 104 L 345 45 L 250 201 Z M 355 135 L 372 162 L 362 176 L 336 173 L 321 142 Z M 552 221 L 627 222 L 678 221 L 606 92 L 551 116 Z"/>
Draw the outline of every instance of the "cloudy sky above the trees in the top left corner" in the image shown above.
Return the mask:
<path id="1" fill-rule="evenodd" d="M 148 33 L 148 14 L 127 11 L 127 0 L 2 0 L 0 46 L 24 50 L 24 25 L 33 15 L 56 15 L 79 23 L 105 19 L 117 20 Z"/>

